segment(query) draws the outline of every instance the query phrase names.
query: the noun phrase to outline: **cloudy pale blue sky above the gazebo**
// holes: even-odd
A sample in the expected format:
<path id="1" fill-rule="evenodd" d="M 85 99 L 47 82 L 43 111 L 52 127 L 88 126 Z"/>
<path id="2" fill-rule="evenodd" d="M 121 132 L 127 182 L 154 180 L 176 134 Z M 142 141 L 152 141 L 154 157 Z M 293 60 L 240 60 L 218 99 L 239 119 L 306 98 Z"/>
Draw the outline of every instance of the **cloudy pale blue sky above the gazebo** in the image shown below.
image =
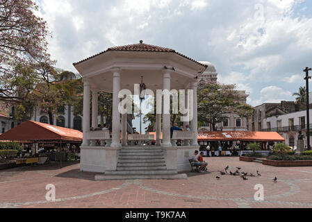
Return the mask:
<path id="1" fill-rule="evenodd" d="M 58 67 L 144 40 L 212 62 L 248 103 L 293 101 L 312 67 L 311 0 L 38 0 Z"/>

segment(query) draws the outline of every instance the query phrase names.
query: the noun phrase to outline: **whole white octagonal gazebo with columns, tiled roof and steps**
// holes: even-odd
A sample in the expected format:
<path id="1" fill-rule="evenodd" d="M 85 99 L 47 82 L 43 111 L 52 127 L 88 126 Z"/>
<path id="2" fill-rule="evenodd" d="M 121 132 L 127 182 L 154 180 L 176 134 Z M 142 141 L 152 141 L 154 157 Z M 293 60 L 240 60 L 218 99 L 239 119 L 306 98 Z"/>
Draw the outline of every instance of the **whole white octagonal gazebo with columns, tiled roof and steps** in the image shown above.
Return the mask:
<path id="1" fill-rule="evenodd" d="M 83 144 L 81 145 L 81 171 L 101 173 L 97 180 L 141 178 L 185 178 L 181 171 L 190 170 L 189 159 L 199 148 L 197 143 L 197 83 L 206 69 L 202 65 L 173 49 L 161 46 L 131 44 L 116 46 L 95 56 L 74 63 L 83 76 Z M 190 108 L 193 118 L 184 121 L 190 131 L 174 131 L 170 137 L 170 114 L 156 114 L 156 138 L 154 135 L 127 135 L 126 113 L 120 114 L 120 91 L 135 94 L 140 77 L 156 95 L 159 89 L 192 91 Z M 192 89 L 192 90 L 190 90 Z M 158 91 L 157 91 L 158 90 Z M 190 90 L 190 91 L 189 91 Z M 97 128 L 98 92 L 113 93 L 112 133 L 92 131 Z M 92 126 L 90 126 L 90 94 L 92 93 Z M 124 98 L 124 97 L 122 97 Z M 185 105 L 185 104 L 183 104 Z M 165 105 L 157 102 L 157 110 Z M 164 108 L 163 108 L 164 109 Z M 161 122 L 163 120 L 163 122 Z M 163 133 L 163 139 L 161 139 Z M 134 146 L 133 140 L 156 140 L 155 146 Z M 182 139 L 183 146 L 175 140 Z M 101 146 L 96 146 L 101 140 Z"/>

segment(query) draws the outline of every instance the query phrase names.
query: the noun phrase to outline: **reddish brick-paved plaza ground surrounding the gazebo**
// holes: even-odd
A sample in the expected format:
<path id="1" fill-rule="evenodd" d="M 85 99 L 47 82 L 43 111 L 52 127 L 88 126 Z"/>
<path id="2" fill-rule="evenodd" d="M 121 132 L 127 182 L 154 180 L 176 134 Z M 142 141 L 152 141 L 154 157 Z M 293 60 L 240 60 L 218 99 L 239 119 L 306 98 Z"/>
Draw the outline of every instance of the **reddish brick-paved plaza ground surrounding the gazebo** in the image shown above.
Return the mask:
<path id="1" fill-rule="evenodd" d="M 22 167 L 0 171 L 0 207 L 312 207 L 312 167 L 269 167 L 240 162 L 238 157 L 206 158 L 208 173 L 189 173 L 187 180 L 95 181 L 79 164 Z M 261 177 L 221 176 L 229 165 Z M 220 176 L 220 180 L 216 180 Z M 272 179 L 277 176 L 278 182 Z M 47 184 L 56 187 L 56 202 L 45 198 Z M 254 200 L 254 186 L 264 187 L 264 200 Z"/>

